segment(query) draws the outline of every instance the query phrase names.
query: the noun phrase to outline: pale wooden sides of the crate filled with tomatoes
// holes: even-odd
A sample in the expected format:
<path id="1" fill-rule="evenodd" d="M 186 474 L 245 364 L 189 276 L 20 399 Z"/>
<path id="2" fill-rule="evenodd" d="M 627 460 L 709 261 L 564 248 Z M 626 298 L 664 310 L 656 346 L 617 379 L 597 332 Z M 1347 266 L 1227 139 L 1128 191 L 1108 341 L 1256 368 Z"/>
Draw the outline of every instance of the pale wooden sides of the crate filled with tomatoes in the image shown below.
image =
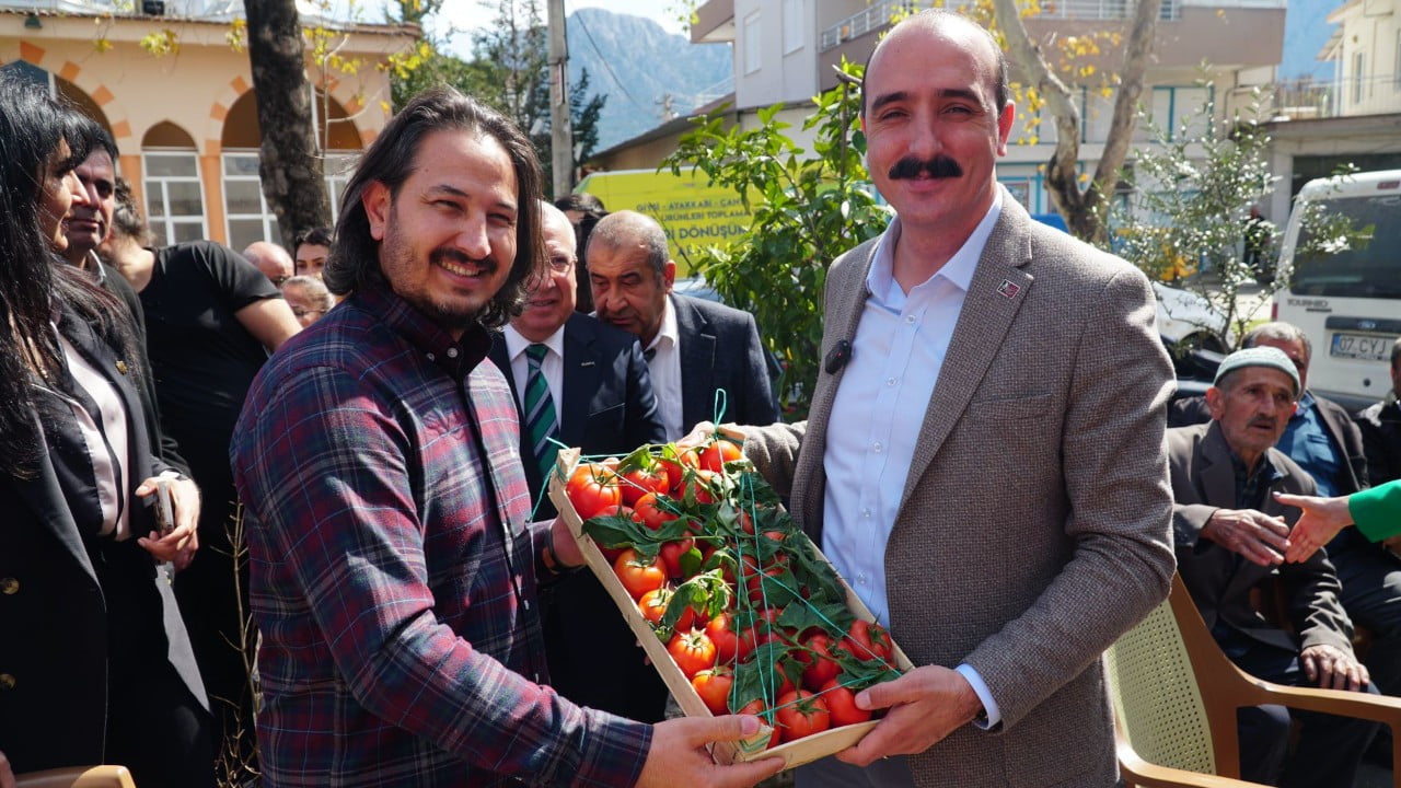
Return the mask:
<path id="1" fill-rule="evenodd" d="M 712 716 L 710 709 L 706 708 L 700 695 L 698 695 L 695 688 L 691 686 L 691 681 L 684 673 L 681 673 L 681 669 L 677 667 L 675 662 L 672 662 L 671 655 L 667 653 L 665 644 L 657 639 L 657 635 L 651 631 L 647 620 L 642 616 L 642 610 L 637 609 L 632 596 L 628 595 L 628 590 L 622 587 L 621 582 L 618 582 L 618 576 L 612 571 L 612 564 L 598 550 L 594 540 L 583 533 L 584 523 L 579 519 L 579 515 L 574 512 L 574 505 L 570 503 L 569 496 L 565 494 L 565 481 L 569 480 L 570 474 L 574 471 L 574 466 L 579 464 L 579 449 L 560 450 L 558 463 L 559 473 L 551 474 L 549 480 L 549 499 L 555 502 L 559 516 L 565 519 L 565 523 L 569 524 L 570 533 L 573 533 L 574 538 L 579 541 L 579 547 L 584 554 L 584 561 L 588 564 L 588 568 L 602 583 L 614 603 L 618 604 L 618 610 L 622 611 L 622 617 L 628 621 L 628 627 L 632 628 L 635 635 L 637 635 L 637 642 L 640 642 L 643 651 L 647 652 L 647 658 L 651 660 L 653 667 L 656 667 L 657 673 L 661 674 L 661 680 L 665 681 L 667 688 L 671 690 L 671 695 L 681 705 L 681 709 L 686 712 L 686 716 Z M 807 540 L 803 534 L 797 536 Z M 822 561 L 827 561 L 827 557 L 822 555 L 817 545 L 813 545 L 813 552 Z M 838 582 L 842 583 L 842 589 L 846 592 L 846 607 L 857 618 L 874 621 L 870 610 L 867 610 L 860 597 L 852 592 L 852 587 L 846 585 L 846 580 L 838 578 Z M 891 646 L 895 666 L 902 672 L 911 670 L 913 666 L 905 656 L 905 652 L 901 651 L 899 645 L 894 642 L 894 638 L 891 639 Z M 743 742 L 717 742 L 712 754 L 719 763 L 734 763 L 737 760 L 755 760 L 761 757 L 782 757 L 783 768 L 787 770 L 845 750 L 846 747 L 860 742 L 862 738 L 866 736 L 866 733 L 874 726 L 876 721 L 832 728 L 766 750 L 764 746 L 769 740 L 772 728 L 761 725 L 759 733 L 751 739 L 745 739 Z"/>

